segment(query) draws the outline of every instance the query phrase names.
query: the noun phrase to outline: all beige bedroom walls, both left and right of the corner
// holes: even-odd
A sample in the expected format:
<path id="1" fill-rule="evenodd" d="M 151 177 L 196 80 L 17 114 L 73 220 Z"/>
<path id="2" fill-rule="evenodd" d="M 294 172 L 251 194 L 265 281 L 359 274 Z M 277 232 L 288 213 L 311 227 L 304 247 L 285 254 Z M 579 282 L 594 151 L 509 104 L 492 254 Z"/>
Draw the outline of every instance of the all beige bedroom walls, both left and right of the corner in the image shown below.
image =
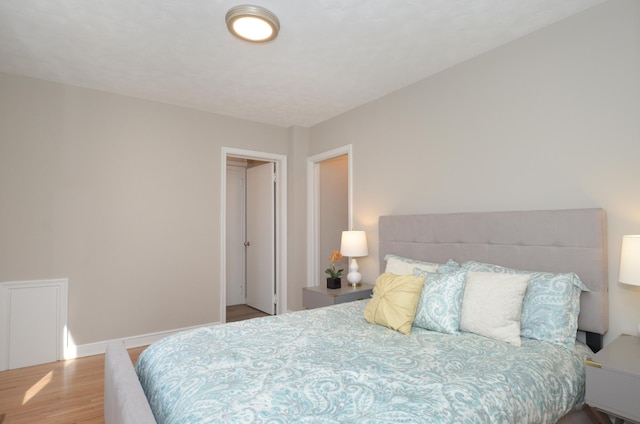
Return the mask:
<path id="1" fill-rule="evenodd" d="M 0 74 L 0 281 L 69 278 L 77 344 L 219 319 L 220 148 L 288 156 L 288 306 L 306 286 L 306 160 L 352 144 L 378 274 L 394 213 L 603 207 L 611 339 L 640 288 L 640 2 L 611 0 L 311 129 Z"/>

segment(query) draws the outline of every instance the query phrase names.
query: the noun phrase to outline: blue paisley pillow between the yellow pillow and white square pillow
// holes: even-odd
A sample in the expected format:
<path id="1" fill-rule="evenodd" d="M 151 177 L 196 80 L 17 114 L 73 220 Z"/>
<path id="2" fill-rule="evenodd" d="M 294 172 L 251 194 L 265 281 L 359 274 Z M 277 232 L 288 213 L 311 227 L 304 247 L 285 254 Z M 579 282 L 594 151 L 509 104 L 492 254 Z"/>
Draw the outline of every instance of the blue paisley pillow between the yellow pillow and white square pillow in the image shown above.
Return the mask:
<path id="1" fill-rule="evenodd" d="M 426 279 L 413 325 L 440 333 L 457 333 L 467 270 L 441 274 L 415 269 L 414 275 Z"/>

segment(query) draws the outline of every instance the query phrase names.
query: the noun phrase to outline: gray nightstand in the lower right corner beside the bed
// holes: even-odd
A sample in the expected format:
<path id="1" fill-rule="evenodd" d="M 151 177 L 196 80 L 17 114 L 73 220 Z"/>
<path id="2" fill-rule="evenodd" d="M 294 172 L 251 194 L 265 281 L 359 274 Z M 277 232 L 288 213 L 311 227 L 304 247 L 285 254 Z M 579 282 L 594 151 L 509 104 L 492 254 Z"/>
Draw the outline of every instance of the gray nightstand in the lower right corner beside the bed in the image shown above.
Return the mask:
<path id="1" fill-rule="evenodd" d="M 616 423 L 640 422 L 640 338 L 623 334 L 586 363 L 587 404 Z"/>

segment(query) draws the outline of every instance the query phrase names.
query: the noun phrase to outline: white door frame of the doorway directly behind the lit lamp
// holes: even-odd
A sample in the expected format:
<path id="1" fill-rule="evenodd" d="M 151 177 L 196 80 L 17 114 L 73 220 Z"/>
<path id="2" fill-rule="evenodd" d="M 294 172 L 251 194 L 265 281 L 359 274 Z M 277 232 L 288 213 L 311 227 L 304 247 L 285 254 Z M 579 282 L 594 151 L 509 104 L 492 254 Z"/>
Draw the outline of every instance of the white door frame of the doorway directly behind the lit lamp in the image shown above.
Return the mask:
<path id="1" fill-rule="evenodd" d="M 307 287 L 320 284 L 320 162 L 347 155 L 347 223 L 353 227 L 353 147 L 351 144 L 307 158 Z"/>

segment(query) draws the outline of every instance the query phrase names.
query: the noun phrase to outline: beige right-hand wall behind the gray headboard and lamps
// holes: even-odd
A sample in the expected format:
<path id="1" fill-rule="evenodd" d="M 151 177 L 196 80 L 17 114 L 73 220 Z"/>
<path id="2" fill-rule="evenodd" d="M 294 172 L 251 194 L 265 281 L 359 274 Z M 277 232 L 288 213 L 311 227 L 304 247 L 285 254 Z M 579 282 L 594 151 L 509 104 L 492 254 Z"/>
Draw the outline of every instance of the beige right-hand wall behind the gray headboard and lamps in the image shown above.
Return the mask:
<path id="1" fill-rule="evenodd" d="M 617 282 L 640 233 L 640 2 L 612 0 L 311 128 L 310 154 L 353 144 L 363 278 L 385 214 L 603 207 L 611 326 L 636 332 Z"/>

